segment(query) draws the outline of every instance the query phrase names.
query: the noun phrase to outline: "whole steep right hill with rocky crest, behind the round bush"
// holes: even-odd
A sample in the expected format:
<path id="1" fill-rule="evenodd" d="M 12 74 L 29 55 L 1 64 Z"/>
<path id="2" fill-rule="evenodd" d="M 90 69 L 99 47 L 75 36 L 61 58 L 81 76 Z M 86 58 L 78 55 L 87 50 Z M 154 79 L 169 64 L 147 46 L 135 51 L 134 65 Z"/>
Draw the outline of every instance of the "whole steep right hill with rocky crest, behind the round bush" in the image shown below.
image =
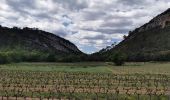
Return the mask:
<path id="1" fill-rule="evenodd" d="M 170 9 L 129 32 L 129 35 L 112 49 L 97 54 L 108 57 L 118 51 L 127 54 L 128 60 L 170 60 Z"/>

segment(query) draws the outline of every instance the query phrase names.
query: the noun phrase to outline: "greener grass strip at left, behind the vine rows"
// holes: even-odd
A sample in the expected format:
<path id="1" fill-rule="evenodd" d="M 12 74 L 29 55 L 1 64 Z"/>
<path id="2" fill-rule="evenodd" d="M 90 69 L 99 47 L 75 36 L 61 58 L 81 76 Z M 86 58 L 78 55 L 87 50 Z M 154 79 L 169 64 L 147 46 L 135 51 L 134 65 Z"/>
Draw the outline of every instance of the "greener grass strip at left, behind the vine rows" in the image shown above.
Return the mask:
<path id="1" fill-rule="evenodd" d="M 0 65 L 1 70 L 102 72 L 111 73 L 104 63 L 13 63 Z"/>

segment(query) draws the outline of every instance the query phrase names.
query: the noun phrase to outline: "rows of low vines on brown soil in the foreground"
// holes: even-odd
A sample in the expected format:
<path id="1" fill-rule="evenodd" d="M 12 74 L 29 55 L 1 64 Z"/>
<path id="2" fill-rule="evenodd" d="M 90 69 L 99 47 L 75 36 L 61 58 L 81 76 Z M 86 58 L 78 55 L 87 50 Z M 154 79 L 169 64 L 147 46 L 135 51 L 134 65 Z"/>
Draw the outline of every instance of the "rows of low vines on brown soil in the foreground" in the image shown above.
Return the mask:
<path id="1" fill-rule="evenodd" d="M 0 76 L 1 100 L 170 99 L 170 76 L 161 72 L 115 74 L 0 68 Z"/>

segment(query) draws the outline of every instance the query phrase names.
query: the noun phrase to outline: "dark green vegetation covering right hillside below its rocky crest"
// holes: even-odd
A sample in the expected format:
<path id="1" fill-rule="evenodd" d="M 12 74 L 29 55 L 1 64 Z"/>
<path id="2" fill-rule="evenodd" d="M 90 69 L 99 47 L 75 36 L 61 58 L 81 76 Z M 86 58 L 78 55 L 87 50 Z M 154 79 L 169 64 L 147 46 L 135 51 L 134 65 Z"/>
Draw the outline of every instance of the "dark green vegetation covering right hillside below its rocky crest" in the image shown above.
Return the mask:
<path id="1" fill-rule="evenodd" d="M 117 51 L 127 55 L 127 61 L 170 61 L 170 26 L 130 33 L 125 40 L 105 52 L 94 55 L 109 60 Z"/>

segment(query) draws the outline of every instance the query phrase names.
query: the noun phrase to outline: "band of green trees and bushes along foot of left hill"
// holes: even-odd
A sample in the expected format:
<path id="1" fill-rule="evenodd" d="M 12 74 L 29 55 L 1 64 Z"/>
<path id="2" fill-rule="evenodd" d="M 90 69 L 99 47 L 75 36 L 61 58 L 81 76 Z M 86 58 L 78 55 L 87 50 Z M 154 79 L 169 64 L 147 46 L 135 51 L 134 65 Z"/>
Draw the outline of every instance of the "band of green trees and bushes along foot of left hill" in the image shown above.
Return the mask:
<path id="1" fill-rule="evenodd" d="M 57 54 L 38 50 L 25 50 L 22 47 L 0 49 L 0 64 L 13 62 L 76 62 L 78 56 Z"/>

